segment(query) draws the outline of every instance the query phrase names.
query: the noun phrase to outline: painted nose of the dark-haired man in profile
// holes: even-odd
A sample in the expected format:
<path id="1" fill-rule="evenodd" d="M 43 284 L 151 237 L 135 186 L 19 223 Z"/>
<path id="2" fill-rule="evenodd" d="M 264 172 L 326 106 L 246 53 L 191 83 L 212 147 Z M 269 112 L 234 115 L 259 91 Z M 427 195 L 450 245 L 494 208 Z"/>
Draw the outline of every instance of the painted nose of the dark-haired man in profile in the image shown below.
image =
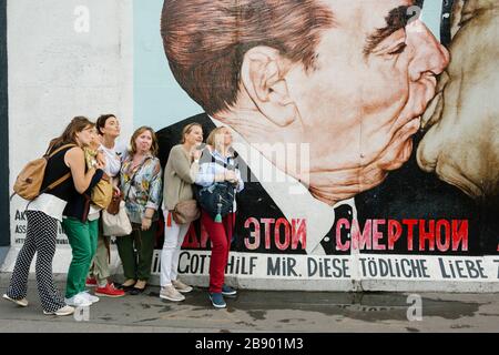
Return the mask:
<path id="1" fill-rule="evenodd" d="M 449 65 L 449 51 L 420 20 L 407 27 L 407 42 L 414 50 L 409 64 L 410 80 L 418 81 L 428 74 L 438 75 Z"/>

